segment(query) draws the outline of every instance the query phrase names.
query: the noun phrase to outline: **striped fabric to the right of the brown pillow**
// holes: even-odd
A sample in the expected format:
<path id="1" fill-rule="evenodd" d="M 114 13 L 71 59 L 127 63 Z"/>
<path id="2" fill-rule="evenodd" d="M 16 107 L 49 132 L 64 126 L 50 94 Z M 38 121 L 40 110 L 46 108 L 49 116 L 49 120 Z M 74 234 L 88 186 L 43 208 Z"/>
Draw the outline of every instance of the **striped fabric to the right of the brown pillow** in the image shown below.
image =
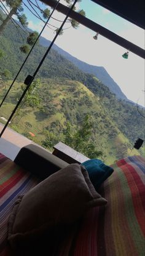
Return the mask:
<path id="1" fill-rule="evenodd" d="M 59 256 L 145 255 L 145 162 L 140 156 L 112 164 L 113 174 L 100 194 L 105 207 L 95 207 L 70 234 Z M 57 256 L 57 255 L 55 255 Z"/>

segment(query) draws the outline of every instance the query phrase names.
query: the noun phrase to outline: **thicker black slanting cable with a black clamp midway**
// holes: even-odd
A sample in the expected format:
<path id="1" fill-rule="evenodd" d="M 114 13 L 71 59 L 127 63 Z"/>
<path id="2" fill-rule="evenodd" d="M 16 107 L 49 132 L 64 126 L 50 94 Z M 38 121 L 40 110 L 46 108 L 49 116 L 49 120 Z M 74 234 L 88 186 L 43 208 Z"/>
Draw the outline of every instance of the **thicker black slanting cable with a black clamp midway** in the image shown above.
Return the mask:
<path id="1" fill-rule="evenodd" d="M 56 34 L 55 37 L 53 38 L 53 40 L 52 40 L 52 42 L 51 42 L 49 48 L 48 48 L 47 51 L 45 52 L 44 57 L 42 58 L 41 62 L 40 62 L 39 65 L 37 66 L 36 71 L 34 72 L 33 76 L 28 75 L 28 76 L 26 77 L 24 83 L 27 85 L 27 87 L 25 88 L 25 90 L 24 90 L 22 96 L 21 96 L 20 99 L 18 100 L 17 105 L 15 106 L 14 110 L 12 111 L 12 114 L 10 114 L 10 117 L 9 117 L 9 119 L 8 119 L 7 122 L 6 122 L 6 125 L 5 125 L 4 128 L 2 129 L 1 134 L 0 134 L 0 138 L 1 138 L 2 134 L 4 133 L 4 130 L 6 130 L 7 126 L 9 125 L 9 122 L 10 122 L 10 120 L 12 119 L 12 117 L 14 116 L 15 111 L 17 110 L 18 106 L 19 106 L 20 103 L 22 102 L 23 97 L 25 96 L 27 90 L 28 90 L 29 87 L 31 86 L 31 83 L 33 82 L 33 80 L 34 80 L 34 78 L 35 78 L 37 72 L 39 71 L 39 69 L 41 68 L 42 63 L 43 63 L 44 60 L 45 60 L 45 57 L 47 57 L 47 54 L 49 53 L 49 51 L 50 51 L 50 49 L 52 48 L 52 46 L 53 46 L 55 40 L 57 39 L 58 34 L 60 34 L 60 31 L 61 31 L 61 29 L 63 28 L 63 25 L 65 24 L 67 18 L 69 17 L 69 14 L 70 14 L 71 10 L 74 8 L 76 2 L 77 2 L 77 0 L 74 0 L 74 2 L 73 2 L 73 4 L 72 4 L 71 8 L 70 8 L 69 11 L 68 11 L 68 14 L 67 14 L 66 17 L 65 17 L 65 20 L 63 20 L 63 23 L 61 24 L 60 28 L 58 29 L 57 34 Z M 57 4 L 58 4 L 58 2 L 57 2 Z M 55 7 L 55 8 L 56 8 L 56 7 Z M 53 10 L 54 10 L 54 9 L 53 9 Z M 50 17 L 49 17 L 49 18 L 50 18 Z"/>

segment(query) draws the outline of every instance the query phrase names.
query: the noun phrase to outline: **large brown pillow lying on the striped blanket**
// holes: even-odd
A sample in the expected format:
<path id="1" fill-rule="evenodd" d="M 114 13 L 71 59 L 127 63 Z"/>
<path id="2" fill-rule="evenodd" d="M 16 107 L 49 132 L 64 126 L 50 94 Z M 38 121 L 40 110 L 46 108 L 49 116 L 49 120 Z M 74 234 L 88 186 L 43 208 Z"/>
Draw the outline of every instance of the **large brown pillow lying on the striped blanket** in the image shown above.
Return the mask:
<path id="1" fill-rule="evenodd" d="M 39 238 L 57 225 L 69 225 L 90 207 L 106 204 L 93 188 L 87 170 L 70 164 L 18 198 L 9 218 L 12 247 Z"/>

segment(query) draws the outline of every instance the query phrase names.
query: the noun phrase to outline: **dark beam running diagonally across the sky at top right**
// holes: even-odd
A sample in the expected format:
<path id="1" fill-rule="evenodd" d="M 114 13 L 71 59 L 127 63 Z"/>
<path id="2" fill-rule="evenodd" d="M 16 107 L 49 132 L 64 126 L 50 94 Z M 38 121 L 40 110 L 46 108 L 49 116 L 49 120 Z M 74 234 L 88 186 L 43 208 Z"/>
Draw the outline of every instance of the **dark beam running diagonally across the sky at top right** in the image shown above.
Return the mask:
<path id="1" fill-rule="evenodd" d="M 55 0 L 41 0 L 41 2 L 44 2 L 45 4 L 49 5 L 50 7 L 55 7 L 57 1 Z M 61 12 L 62 14 L 67 14 L 69 11 L 69 8 L 67 6 L 64 6 L 63 4 L 58 4 L 57 10 Z M 104 38 L 108 38 L 112 42 L 115 42 L 116 44 L 119 44 L 119 46 L 124 47 L 130 52 L 133 52 L 134 54 L 138 55 L 141 58 L 145 58 L 145 50 L 142 49 L 139 46 L 136 46 L 130 41 L 127 41 L 126 39 L 122 38 L 121 36 L 118 36 L 117 34 L 113 33 L 112 31 L 108 30 L 107 28 L 104 28 L 103 26 L 93 22 L 89 18 L 86 18 L 77 12 L 74 12 L 74 10 L 71 11 L 69 14 L 70 18 L 73 18 L 80 24 L 86 26 L 90 30 L 93 30 L 95 32 L 99 32 Z"/>

